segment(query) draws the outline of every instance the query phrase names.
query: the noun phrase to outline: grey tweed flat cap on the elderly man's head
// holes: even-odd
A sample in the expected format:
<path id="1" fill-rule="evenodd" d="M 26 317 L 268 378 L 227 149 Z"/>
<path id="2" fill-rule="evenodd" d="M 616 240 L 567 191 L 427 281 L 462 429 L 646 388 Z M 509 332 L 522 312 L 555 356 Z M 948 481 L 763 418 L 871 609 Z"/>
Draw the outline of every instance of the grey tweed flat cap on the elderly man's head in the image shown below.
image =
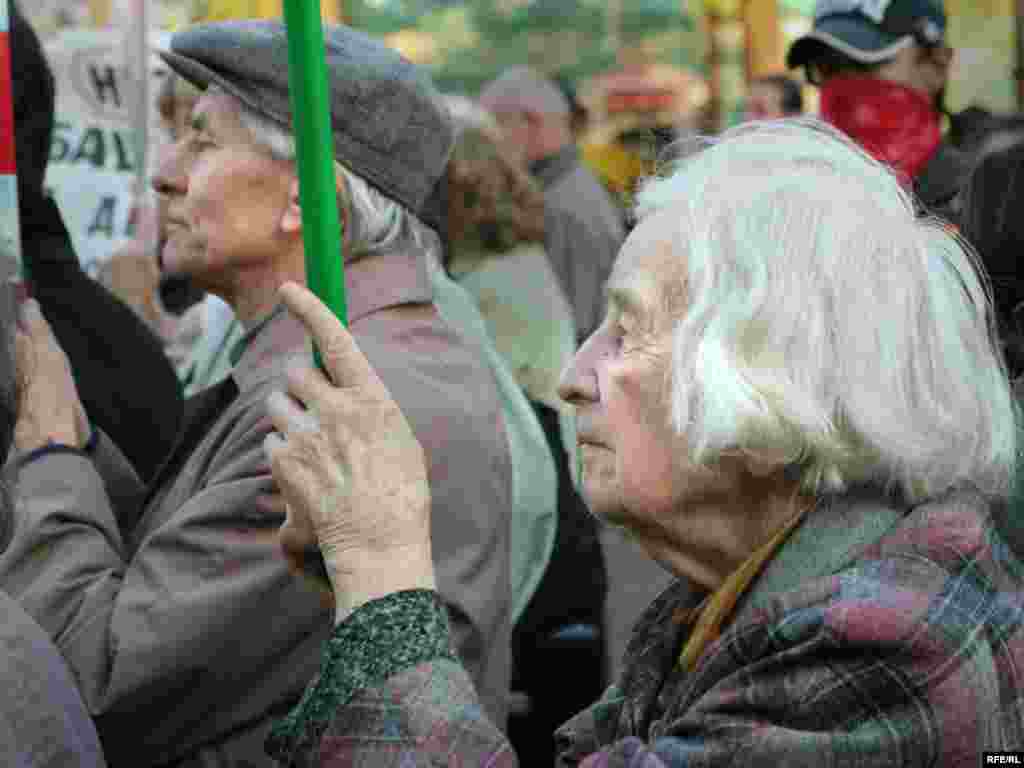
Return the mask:
<path id="1" fill-rule="evenodd" d="M 348 27 L 325 25 L 335 158 L 419 214 L 444 170 L 455 131 L 430 77 Z M 167 65 L 215 84 L 291 130 L 288 37 L 273 20 L 201 24 L 176 33 Z"/>

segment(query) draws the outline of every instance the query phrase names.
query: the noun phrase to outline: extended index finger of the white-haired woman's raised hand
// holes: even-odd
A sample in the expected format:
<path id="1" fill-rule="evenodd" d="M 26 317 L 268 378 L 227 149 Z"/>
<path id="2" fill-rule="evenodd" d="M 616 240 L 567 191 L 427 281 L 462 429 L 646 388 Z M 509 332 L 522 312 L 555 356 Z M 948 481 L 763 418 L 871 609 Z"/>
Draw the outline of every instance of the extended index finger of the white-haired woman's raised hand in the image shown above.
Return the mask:
<path id="1" fill-rule="evenodd" d="M 355 339 L 312 291 L 297 283 L 286 283 L 281 287 L 281 298 L 313 337 L 335 386 L 361 386 L 380 381 Z"/>

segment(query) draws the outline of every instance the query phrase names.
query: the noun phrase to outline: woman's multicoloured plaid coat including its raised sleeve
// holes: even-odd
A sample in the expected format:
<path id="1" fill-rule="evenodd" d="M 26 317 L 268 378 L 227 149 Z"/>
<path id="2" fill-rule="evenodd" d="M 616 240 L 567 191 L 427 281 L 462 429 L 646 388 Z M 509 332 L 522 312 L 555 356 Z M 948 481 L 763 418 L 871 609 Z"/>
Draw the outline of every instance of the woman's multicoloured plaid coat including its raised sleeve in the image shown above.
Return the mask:
<path id="1" fill-rule="evenodd" d="M 670 586 L 639 621 L 617 684 L 559 729 L 558 765 L 976 766 L 984 750 L 1024 749 L 1024 566 L 991 520 L 972 492 L 910 510 L 868 494 L 825 500 L 691 673 L 676 659 L 700 595 Z M 327 652 L 374 647 L 377 672 L 326 664 L 308 709 L 293 713 L 299 740 L 285 741 L 305 748 L 279 741 L 276 754 L 295 765 L 514 764 L 465 674 L 436 637 L 427 647 L 417 609 L 397 623 L 410 625 L 400 637 L 417 627 L 420 651 L 396 639 L 392 658 L 406 662 L 389 667 L 376 644 L 388 618 L 372 613 L 392 598 L 411 599 L 360 608 Z"/>

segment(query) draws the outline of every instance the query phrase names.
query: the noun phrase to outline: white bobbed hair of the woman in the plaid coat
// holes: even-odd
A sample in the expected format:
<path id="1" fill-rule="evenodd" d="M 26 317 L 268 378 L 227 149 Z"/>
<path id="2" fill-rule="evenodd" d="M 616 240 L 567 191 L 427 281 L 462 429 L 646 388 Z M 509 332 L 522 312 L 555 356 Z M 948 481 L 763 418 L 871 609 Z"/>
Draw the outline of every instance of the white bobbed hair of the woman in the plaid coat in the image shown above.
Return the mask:
<path id="1" fill-rule="evenodd" d="M 693 461 L 739 452 L 811 493 L 1009 493 L 990 287 L 887 167 L 815 120 L 751 123 L 701 139 L 637 204 L 679 214 L 670 397 Z"/>

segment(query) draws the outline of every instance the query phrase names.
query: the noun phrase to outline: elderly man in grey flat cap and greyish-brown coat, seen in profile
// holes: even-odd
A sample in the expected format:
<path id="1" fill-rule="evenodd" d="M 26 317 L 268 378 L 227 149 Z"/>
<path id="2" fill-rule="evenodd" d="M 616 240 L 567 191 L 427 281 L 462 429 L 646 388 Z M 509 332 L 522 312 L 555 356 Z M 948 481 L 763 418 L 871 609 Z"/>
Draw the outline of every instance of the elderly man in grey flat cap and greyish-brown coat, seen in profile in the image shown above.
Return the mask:
<path id="1" fill-rule="evenodd" d="M 439 590 L 503 722 L 505 427 L 494 378 L 431 302 L 436 238 L 414 213 L 453 130 L 400 56 L 345 28 L 326 43 L 350 328 L 424 445 Z M 204 89 L 154 179 L 165 265 L 230 303 L 247 334 L 231 376 L 189 401 L 177 447 L 131 509 L 111 502 L 132 479 L 110 471 L 113 446 L 83 451 L 62 353 L 41 322 L 30 328 L 38 369 L 23 409 L 50 439 L 23 459 L 0 586 L 63 652 L 112 766 L 269 765 L 269 724 L 316 672 L 333 624 L 327 593 L 278 543 L 285 510 L 263 450 L 267 395 L 310 349 L 278 299 L 304 269 L 286 35 L 276 22 L 203 25 L 163 55 Z"/>

